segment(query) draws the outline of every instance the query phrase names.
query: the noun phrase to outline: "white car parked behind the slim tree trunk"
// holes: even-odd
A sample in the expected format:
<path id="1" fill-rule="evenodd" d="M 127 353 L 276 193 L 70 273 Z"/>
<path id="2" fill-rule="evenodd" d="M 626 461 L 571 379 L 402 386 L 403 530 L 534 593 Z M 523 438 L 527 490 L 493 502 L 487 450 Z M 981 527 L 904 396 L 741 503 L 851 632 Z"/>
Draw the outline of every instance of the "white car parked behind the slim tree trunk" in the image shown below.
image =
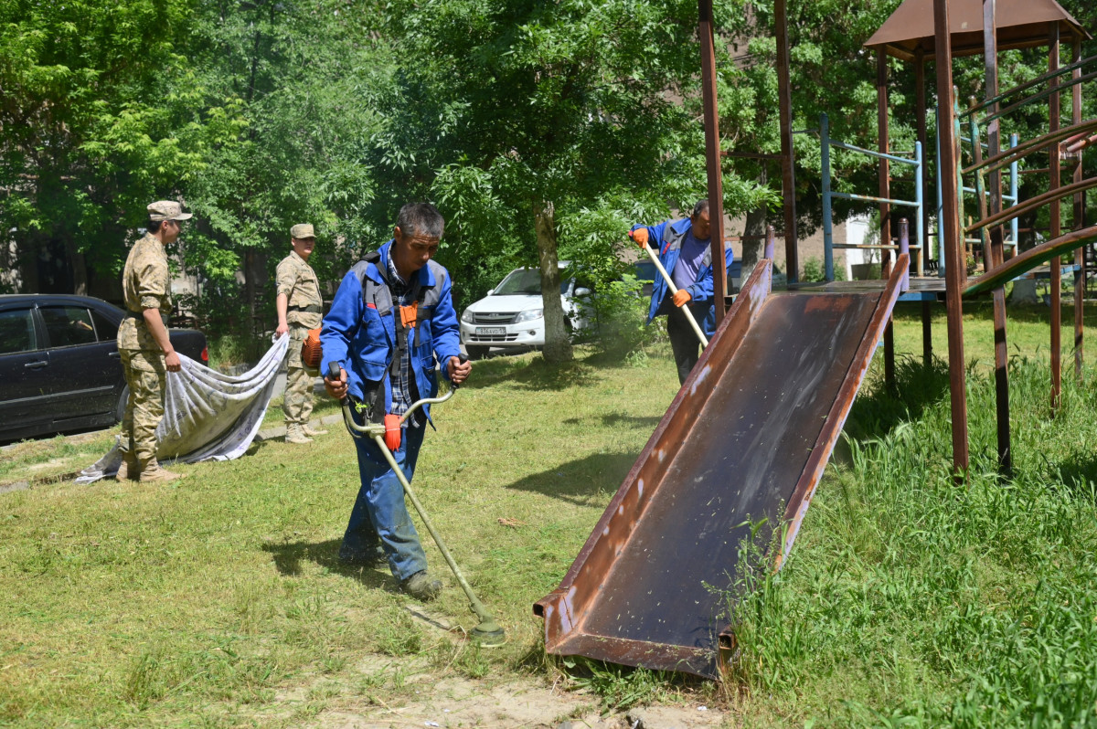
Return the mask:
<path id="1" fill-rule="evenodd" d="M 561 261 L 564 271 L 568 261 Z M 562 276 L 559 299 L 564 306 L 564 326 L 568 332 L 589 324 L 588 308 L 583 304 L 590 288 L 574 276 Z M 545 319 L 541 299 L 541 272 L 514 269 L 487 296 L 461 315 L 461 343 L 468 356 L 485 354 L 489 348 L 544 346 Z"/>

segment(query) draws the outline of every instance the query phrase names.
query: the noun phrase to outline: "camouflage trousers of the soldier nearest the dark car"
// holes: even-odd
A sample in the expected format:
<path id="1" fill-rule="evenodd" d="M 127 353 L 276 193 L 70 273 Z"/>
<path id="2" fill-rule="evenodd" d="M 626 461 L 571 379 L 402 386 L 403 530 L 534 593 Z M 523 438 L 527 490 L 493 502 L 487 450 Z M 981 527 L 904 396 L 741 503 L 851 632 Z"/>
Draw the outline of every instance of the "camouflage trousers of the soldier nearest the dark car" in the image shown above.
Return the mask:
<path id="1" fill-rule="evenodd" d="M 163 354 L 149 350 L 120 349 L 129 398 L 122 418 L 122 451 L 145 464 L 156 459 L 156 426 L 163 418 L 167 368 Z"/>

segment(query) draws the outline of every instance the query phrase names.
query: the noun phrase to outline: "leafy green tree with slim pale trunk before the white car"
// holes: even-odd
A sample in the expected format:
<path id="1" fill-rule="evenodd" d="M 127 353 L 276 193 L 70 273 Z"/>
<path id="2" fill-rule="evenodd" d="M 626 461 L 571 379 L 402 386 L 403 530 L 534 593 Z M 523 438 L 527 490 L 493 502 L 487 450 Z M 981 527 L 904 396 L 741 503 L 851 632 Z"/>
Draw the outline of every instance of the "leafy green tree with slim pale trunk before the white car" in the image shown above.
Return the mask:
<path id="1" fill-rule="evenodd" d="M 443 206 L 472 291 L 539 254 L 555 275 L 562 231 L 561 255 L 609 269 L 630 223 L 703 194 L 701 125 L 676 101 L 697 92 L 692 0 L 400 0 L 388 21 L 400 103 L 381 166 Z"/>

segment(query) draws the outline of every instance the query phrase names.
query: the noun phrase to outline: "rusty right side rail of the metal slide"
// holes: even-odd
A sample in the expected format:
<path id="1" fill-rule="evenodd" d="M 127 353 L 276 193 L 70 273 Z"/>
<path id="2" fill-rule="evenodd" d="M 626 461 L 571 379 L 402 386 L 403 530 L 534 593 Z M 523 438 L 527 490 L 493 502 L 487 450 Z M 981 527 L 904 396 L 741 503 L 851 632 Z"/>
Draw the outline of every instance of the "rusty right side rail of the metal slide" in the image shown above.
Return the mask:
<path id="1" fill-rule="evenodd" d="M 784 544 L 782 545 L 781 554 L 774 556 L 774 567 L 777 569 L 781 568 L 785 557 L 788 557 L 789 551 L 792 549 L 792 543 L 795 540 L 796 534 L 800 532 L 800 524 L 807 512 L 812 496 L 815 493 L 815 487 L 818 486 L 819 479 L 823 478 L 823 471 L 830 459 L 830 454 L 834 452 L 838 435 L 846 424 L 846 418 L 853 406 L 853 399 L 861 389 L 861 383 L 864 381 L 869 364 L 872 362 L 872 354 L 877 349 L 877 342 L 880 341 L 887 322 L 891 320 L 892 309 L 895 307 L 895 301 L 898 300 L 900 289 L 903 285 L 903 276 L 907 269 L 909 269 L 909 265 L 911 258 L 908 254 L 902 253 L 896 258 L 895 267 L 892 269 L 887 286 L 880 294 L 875 311 L 873 311 L 872 319 L 869 320 L 869 326 L 861 339 L 861 345 L 858 348 L 853 362 L 850 364 L 841 387 L 838 389 L 823 430 L 819 432 L 819 436 L 812 447 L 812 455 L 808 456 L 804 471 L 796 482 L 796 488 L 789 498 L 789 503 L 784 510 Z"/>

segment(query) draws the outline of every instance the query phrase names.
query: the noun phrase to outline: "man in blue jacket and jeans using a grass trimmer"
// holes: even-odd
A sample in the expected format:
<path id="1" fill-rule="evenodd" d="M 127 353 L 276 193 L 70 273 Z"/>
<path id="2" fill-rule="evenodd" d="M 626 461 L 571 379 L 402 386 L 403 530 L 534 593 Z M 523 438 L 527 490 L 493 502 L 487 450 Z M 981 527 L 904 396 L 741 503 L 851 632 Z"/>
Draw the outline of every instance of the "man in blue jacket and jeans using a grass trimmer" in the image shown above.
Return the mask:
<path id="1" fill-rule="evenodd" d="M 444 220 L 429 203 L 400 208 L 394 238 L 354 264 L 343 276 L 324 318 L 321 367 L 339 363 L 339 379 L 325 376 L 333 398 L 350 395 L 359 424 L 381 422 L 385 413 L 404 414 L 416 400 L 434 397 L 442 375 L 460 385 L 472 371 L 461 364 L 457 315 L 450 274 L 432 261 Z M 400 448 L 393 455 L 408 482 L 422 445 L 427 407 L 404 424 Z M 362 487 L 343 534 L 339 558 L 374 566 L 385 559 L 405 592 L 432 600 L 442 589 L 427 572 L 427 557 L 407 505 L 404 489 L 377 445 L 354 438 Z"/>

